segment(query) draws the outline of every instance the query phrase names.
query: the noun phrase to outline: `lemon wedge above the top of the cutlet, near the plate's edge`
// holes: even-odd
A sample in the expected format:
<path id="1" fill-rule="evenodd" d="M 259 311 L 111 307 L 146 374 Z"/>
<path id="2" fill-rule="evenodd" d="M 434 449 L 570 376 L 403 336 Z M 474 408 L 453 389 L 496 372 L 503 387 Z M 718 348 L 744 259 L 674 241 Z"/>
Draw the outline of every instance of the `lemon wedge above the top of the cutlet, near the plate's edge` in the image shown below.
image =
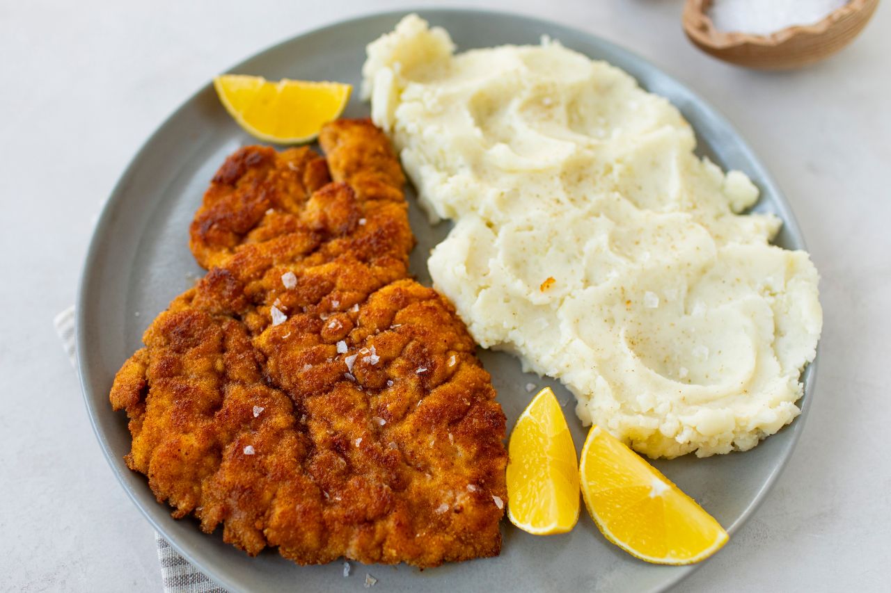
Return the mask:
<path id="1" fill-rule="evenodd" d="M 304 80 L 269 81 L 225 74 L 214 78 L 220 102 L 248 134 L 278 144 L 311 142 L 347 106 L 351 85 Z"/>

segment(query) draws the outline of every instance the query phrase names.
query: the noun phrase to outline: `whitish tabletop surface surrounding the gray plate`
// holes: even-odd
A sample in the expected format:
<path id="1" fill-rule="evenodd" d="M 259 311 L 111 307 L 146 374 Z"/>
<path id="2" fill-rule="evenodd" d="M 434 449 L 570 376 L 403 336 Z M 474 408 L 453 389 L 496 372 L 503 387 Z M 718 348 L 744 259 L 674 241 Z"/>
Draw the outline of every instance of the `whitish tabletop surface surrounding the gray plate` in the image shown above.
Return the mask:
<path id="1" fill-rule="evenodd" d="M 127 161 L 250 54 L 359 13 L 440 4 L 0 0 L 0 590 L 161 588 L 151 527 L 102 458 L 52 327 Z M 822 274 L 807 430 L 764 506 L 681 589 L 887 590 L 891 10 L 830 61 L 769 74 L 699 53 L 681 0 L 479 4 L 616 41 L 717 106 L 772 169 Z"/>

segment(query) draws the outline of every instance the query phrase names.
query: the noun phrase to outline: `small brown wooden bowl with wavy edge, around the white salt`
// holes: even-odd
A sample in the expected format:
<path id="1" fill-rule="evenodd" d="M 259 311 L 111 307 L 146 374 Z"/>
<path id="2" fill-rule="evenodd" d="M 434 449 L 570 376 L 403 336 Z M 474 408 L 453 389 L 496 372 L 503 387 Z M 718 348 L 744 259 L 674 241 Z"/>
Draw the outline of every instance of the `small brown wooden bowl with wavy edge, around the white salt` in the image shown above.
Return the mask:
<path id="1" fill-rule="evenodd" d="M 712 0 L 687 0 L 683 30 L 693 44 L 715 58 L 758 69 L 792 69 L 828 58 L 860 33 L 879 0 L 851 0 L 813 25 L 749 35 L 715 28 L 708 17 Z"/>

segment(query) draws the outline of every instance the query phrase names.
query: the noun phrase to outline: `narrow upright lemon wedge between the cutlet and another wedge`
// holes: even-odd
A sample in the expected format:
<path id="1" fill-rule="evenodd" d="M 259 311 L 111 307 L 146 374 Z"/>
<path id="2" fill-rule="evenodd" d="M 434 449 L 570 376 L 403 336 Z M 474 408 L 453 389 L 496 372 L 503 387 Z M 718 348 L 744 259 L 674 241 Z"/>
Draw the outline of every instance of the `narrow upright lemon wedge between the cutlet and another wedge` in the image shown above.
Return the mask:
<path id="1" fill-rule="evenodd" d="M 507 516 L 535 535 L 570 531 L 578 521 L 576 447 L 550 387 L 540 391 L 511 432 Z"/>

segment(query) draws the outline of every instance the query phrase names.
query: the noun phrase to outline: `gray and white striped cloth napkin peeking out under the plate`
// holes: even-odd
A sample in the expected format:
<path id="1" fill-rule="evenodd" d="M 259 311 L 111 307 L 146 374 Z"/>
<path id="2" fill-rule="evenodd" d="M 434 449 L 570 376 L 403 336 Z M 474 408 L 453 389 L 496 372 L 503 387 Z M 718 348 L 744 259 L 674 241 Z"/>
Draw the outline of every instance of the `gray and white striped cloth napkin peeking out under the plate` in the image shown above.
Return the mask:
<path id="1" fill-rule="evenodd" d="M 71 364 L 77 370 L 74 350 L 74 307 L 69 307 L 56 315 L 53 325 Z M 158 532 L 155 532 L 155 544 L 158 546 L 158 560 L 165 593 L 226 593 L 226 590 L 221 589 L 207 574 L 200 572 L 180 556 L 170 542 L 162 538 Z"/>

